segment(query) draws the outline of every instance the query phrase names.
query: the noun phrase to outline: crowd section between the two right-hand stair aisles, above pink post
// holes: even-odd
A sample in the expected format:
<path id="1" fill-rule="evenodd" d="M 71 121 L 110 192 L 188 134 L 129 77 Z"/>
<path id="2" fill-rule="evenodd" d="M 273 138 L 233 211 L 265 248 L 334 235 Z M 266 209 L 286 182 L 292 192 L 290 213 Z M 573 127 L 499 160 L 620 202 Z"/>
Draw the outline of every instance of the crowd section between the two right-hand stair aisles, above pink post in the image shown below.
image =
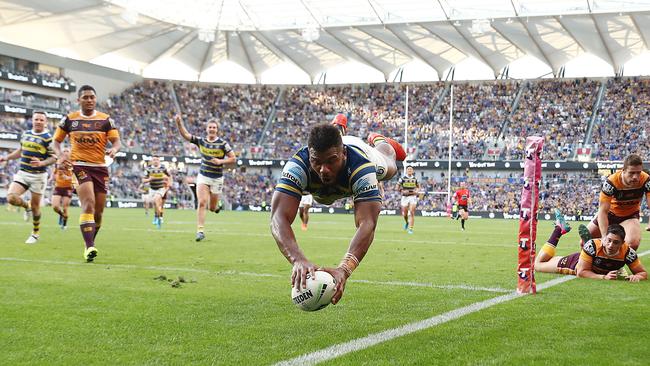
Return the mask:
<path id="1" fill-rule="evenodd" d="M 583 142 L 596 103 L 599 81 L 587 79 L 529 82 L 504 130 L 503 157 L 520 160 L 527 136 L 545 137 L 545 160 L 572 157 Z"/>

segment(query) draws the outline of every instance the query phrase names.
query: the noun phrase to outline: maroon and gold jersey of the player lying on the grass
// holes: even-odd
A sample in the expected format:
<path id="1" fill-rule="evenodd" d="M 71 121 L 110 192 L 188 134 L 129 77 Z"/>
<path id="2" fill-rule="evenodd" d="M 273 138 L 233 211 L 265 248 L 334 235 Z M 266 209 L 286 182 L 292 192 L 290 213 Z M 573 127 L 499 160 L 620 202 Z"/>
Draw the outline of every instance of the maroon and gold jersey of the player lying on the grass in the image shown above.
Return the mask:
<path id="1" fill-rule="evenodd" d="M 634 249 L 630 248 L 627 243 L 623 243 L 621 249 L 614 256 L 605 253 L 600 239 L 589 240 L 582 247 L 580 259 L 591 263 L 591 270 L 597 274 L 607 274 L 609 271 L 616 271 L 627 264 L 631 270 L 641 265 L 641 260 Z"/>

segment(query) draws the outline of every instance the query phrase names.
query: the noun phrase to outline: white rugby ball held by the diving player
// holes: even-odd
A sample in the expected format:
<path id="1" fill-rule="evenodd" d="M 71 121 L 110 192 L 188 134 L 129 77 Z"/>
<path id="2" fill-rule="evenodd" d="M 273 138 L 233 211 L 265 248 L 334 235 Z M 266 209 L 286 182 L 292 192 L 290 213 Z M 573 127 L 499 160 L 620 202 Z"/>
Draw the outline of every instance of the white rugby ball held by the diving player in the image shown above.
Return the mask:
<path id="1" fill-rule="evenodd" d="M 291 300 L 304 311 L 320 310 L 332 302 L 336 281 L 331 274 L 325 271 L 316 271 L 312 278 L 307 274 L 307 288 L 300 291 L 291 288 Z"/>

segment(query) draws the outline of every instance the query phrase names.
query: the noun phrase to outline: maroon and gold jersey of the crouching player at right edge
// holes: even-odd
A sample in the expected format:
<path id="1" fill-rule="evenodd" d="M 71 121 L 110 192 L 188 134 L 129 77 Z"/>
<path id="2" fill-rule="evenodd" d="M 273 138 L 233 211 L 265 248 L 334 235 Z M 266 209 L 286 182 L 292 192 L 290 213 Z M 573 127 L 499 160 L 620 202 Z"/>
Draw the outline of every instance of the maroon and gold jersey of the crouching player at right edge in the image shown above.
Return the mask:
<path id="1" fill-rule="evenodd" d="M 643 196 L 650 192 L 650 176 L 641 172 L 639 183 L 633 187 L 625 187 L 622 179 L 623 171 L 618 171 L 609 177 L 600 191 L 600 202 L 609 202 L 609 212 L 626 217 L 639 212 Z"/>

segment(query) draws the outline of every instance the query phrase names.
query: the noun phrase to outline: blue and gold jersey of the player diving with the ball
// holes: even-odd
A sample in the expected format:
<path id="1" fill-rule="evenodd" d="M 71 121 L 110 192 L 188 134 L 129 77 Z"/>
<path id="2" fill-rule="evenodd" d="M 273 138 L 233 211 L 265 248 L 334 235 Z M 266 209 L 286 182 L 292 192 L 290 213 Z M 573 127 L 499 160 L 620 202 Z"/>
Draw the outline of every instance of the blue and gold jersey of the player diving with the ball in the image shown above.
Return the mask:
<path id="1" fill-rule="evenodd" d="M 345 145 L 347 161 L 334 185 L 323 185 L 318 174 L 310 168 L 307 147 L 300 149 L 284 166 L 275 190 L 300 200 L 311 193 L 316 202 L 331 205 L 334 201 L 352 197 L 354 202 L 378 201 L 379 194 L 375 164 L 365 153 Z"/>

